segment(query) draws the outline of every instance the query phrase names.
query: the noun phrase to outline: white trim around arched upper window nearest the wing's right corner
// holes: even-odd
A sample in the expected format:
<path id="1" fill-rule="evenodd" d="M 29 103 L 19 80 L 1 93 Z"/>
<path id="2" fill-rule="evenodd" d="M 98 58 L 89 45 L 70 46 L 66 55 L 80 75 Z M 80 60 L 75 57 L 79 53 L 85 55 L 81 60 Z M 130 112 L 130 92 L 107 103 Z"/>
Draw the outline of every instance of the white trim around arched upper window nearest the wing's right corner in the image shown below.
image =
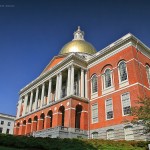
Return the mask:
<path id="1" fill-rule="evenodd" d="M 128 78 L 128 69 L 127 69 L 127 63 L 126 63 L 126 62 L 125 62 L 125 64 L 126 64 L 127 79 L 124 80 L 124 81 L 121 81 L 121 80 L 120 80 L 120 69 L 119 69 L 119 65 L 120 65 L 121 62 L 125 62 L 125 61 L 122 60 L 122 61 L 120 61 L 119 64 L 118 64 L 118 77 L 119 77 L 119 87 L 120 87 L 120 88 L 129 85 L 129 81 L 128 81 L 128 79 L 129 79 L 129 78 Z"/>

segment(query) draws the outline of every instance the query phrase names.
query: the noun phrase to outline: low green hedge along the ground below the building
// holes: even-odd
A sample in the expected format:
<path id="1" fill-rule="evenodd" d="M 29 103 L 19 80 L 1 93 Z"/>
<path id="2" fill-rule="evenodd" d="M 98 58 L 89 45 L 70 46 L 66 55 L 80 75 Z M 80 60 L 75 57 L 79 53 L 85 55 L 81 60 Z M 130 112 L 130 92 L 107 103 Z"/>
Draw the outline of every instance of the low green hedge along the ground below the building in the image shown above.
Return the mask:
<path id="1" fill-rule="evenodd" d="M 148 142 L 99 139 L 51 139 L 0 134 L 0 145 L 11 147 L 8 150 L 146 150 Z M 0 147 L 0 149 L 2 148 Z M 3 148 L 3 150 L 7 149 Z"/>

